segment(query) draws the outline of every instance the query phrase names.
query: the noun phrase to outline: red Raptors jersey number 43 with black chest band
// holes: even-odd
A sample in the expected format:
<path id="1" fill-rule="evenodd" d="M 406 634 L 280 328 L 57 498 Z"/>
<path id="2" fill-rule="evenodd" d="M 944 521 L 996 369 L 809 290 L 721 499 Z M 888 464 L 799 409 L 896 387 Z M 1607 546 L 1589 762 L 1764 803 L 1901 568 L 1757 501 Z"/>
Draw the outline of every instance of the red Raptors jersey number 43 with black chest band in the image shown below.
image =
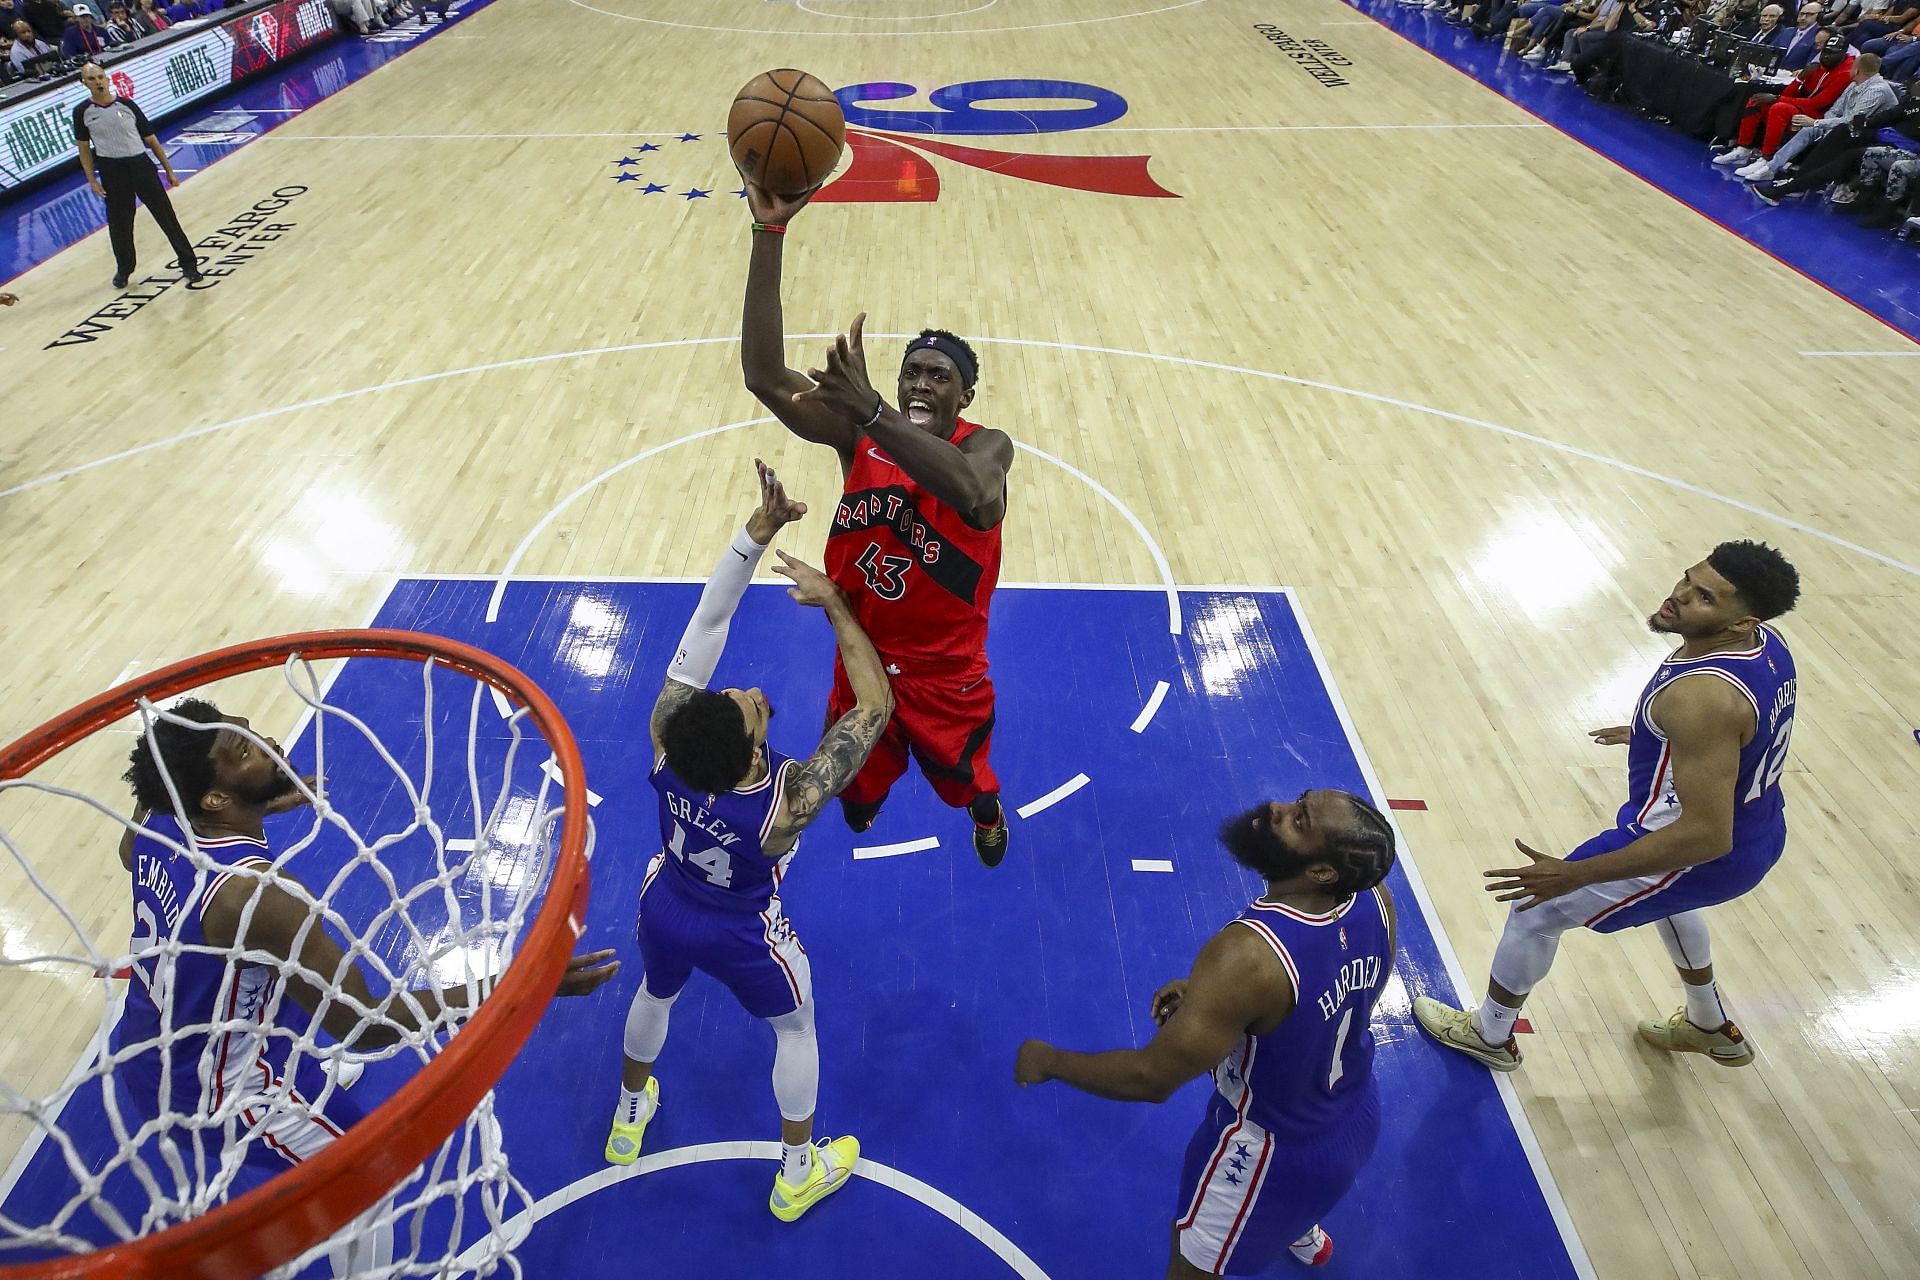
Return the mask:
<path id="1" fill-rule="evenodd" d="M 950 443 L 977 430 L 960 418 Z M 828 532 L 828 578 L 883 658 L 985 662 L 1000 528 L 972 528 L 862 438 Z"/>

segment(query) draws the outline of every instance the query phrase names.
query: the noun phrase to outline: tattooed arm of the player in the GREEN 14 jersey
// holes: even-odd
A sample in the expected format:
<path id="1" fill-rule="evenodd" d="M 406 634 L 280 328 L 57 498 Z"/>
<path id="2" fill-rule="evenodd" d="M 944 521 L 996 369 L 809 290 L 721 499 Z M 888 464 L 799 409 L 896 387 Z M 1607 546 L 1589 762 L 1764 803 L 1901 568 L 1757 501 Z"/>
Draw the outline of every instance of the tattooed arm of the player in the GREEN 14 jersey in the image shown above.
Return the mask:
<path id="1" fill-rule="evenodd" d="M 764 844 L 770 858 L 793 848 L 806 823 L 820 818 L 828 800 L 845 791 L 866 758 L 874 754 L 874 745 L 893 716 L 893 685 L 887 683 L 887 668 L 881 664 L 879 652 L 874 651 L 874 641 L 860 629 L 860 622 L 852 616 L 852 606 L 839 587 L 826 574 L 801 564 L 785 551 L 780 553 L 780 564 L 774 572 L 793 580 L 787 595 L 801 604 L 828 612 L 833 639 L 839 643 L 841 666 L 847 668 L 847 683 L 852 685 L 854 704 L 833 722 L 806 764 L 787 773 L 780 818 L 774 819 Z"/>

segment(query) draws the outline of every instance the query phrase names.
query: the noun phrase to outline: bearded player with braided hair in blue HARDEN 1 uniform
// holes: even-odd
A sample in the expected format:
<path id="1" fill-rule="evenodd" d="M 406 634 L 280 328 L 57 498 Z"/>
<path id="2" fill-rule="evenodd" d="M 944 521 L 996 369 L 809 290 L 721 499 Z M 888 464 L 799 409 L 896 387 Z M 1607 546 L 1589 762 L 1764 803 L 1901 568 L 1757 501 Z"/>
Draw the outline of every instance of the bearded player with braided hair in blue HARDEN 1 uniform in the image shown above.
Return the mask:
<path id="1" fill-rule="evenodd" d="M 1215 933 L 1192 975 L 1154 992 L 1140 1050 L 1069 1054 L 1027 1040 L 1020 1084 L 1062 1080 L 1117 1102 L 1165 1102 L 1213 1075 L 1187 1148 L 1167 1276 L 1332 1257 L 1321 1217 L 1380 1136 L 1373 1002 L 1394 969 L 1394 829 L 1346 791 L 1308 791 L 1227 819 L 1221 844 L 1267 890 Z"/>

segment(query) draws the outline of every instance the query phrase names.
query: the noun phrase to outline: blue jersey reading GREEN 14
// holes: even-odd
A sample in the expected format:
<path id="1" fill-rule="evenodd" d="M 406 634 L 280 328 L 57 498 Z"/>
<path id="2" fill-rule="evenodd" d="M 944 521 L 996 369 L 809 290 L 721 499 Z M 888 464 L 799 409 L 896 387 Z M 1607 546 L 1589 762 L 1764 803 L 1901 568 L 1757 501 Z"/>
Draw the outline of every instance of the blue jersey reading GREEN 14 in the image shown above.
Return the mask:
<path id="1" fill-rule="evenodd" d="M 660 793 L 660 844 L 666 848 L 662 877 L 693 902 L 728 912 L 760 913 L 780 890 L 793 850 L 768 858 L 762 850 L 785 796 L 793 758 L 766 750 L 766 777 L 733 791 L 695 791 L 666 768 L 653 766 Z M 799 844 L 795 844 L 799 848 Z"/>

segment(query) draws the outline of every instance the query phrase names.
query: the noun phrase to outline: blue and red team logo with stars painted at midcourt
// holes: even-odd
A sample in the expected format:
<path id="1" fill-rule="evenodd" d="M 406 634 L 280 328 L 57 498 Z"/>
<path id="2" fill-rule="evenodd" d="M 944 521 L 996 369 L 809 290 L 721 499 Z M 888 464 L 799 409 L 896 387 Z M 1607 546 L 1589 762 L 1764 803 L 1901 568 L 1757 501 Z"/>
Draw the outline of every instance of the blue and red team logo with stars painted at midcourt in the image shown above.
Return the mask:
<path id="1" fill-rule="evenodd" d="M 816 201 L 843 203 L 924 203 L 941 198 L 941 175 L 935 159 L 983 169 L 987 173 L 1064 186 L 1104 196 L 1140 196 L 1148 200 L 1179 200 L 1177 192 L 1160 186 L 1146 171 L 1150 155 L 1062 155 L 1035 152 L 1006 152 L 947 142 L 954 136 L 1020 136 L 1056 134 L 1112 125 L 1127 113 L 1127 100 L 1098 84 L 1075 81 L 966 81 L 947 84 L 927 94 L 927 107 L 893 109 L 879 104 L 910 100 L 920 90 L 914 84 L 874 81 L 833 90 L 847 115 L 847 167 L 820 188 Z M 701 142 L 716 134 L 678 134 L 680 144 Z M 724 138 L 720 138 L 724 144 Z M 691 159 L 687 148 L 685 159 Z M 705 159 L 705 157 L 703 157 Z M 634 154 L 611 161 L 618 173 L 614 182 L 632 184 L 641 196 L 678 196 L 685 201 L 710 200 L 716 190 L 735 188 L 737 177 L 728 167 L 726 180 L 697 182 L 684 173 L 680 146 L 639 142 Z M 724 154 L 722 154 L 722 161 Z M 701 177 L 710 165 L 703 165 Z M 668 177 L 668 175 L 676 177 Z M 659 175 L 659 177 L 655 177 Z M 682 188 L 684 190 L 676 190 Z M 741 196 L 741 190 L 732 190 Z"/>

